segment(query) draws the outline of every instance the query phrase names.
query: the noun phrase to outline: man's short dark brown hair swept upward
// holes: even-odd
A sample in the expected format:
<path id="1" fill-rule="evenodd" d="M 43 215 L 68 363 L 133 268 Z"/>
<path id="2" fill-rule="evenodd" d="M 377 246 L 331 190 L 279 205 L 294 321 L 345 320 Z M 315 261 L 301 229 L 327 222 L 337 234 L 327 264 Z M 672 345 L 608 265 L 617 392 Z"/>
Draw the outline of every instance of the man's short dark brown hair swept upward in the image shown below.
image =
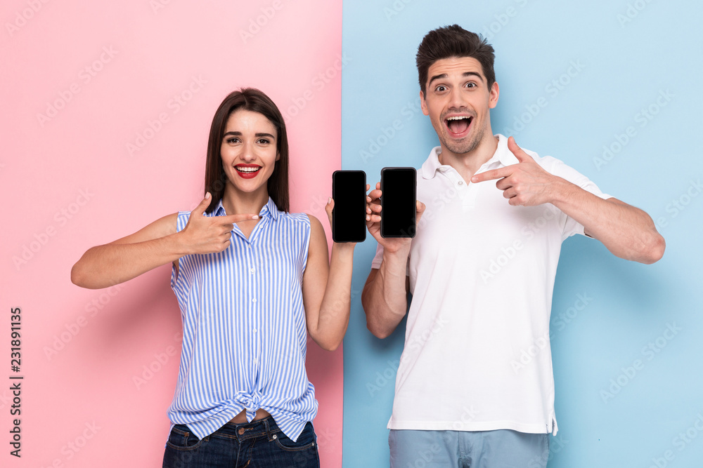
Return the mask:
<path id="1" fill-rule="evenodd" d="M 423 95 L 427 91 L 427 70 L 437 60 L 452 57 L 475 58 L 481 64 L 488 87 L 496 82 L 496 72 L 493 69 L 496 55 L 493 46 L 479 34 L 467 31 L 459 25 L 444 26 L 425 35 L 418 47 L 418 55 L 415 56 Z"/>

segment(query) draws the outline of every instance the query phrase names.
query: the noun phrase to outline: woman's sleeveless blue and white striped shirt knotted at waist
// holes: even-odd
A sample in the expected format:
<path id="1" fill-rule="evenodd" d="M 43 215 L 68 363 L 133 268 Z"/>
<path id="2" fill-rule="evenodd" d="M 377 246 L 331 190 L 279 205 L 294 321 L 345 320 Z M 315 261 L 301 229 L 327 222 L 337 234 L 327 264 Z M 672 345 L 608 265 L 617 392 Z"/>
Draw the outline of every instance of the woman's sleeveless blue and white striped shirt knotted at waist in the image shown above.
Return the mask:
<path id="1" fill-rule="evenodd" d="M 177 231 L 190 215 L 179 212 Z M 205 214 L 219 215 L 222 201 Z M 264 408 L 295 441 L 317 414 L 302 297 L 310 220 L 279 211 L 270 198 L 259 217 L 249 239 L 234 225 L 226 250 L 181 257 L 172 272 L 183 347 L 168 415 L 199 439 L 242 410 L 252 420 Z"/>

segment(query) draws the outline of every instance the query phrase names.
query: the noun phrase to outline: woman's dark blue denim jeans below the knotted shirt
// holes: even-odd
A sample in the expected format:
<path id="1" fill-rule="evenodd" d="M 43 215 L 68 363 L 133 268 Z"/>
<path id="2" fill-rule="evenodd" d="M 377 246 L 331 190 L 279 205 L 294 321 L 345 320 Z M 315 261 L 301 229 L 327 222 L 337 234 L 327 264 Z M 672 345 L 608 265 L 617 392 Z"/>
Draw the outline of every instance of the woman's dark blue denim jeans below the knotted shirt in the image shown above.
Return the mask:
<path id="1" fill-rule="evenodd" d="M 169 434 L 163 468 L 319 468 L 316 435 L 305 424 L 296 442 L 288 439 L 273 417 L 233 424 L 228 422 L 198 439 L 188 426 L 176 424 Z"/>

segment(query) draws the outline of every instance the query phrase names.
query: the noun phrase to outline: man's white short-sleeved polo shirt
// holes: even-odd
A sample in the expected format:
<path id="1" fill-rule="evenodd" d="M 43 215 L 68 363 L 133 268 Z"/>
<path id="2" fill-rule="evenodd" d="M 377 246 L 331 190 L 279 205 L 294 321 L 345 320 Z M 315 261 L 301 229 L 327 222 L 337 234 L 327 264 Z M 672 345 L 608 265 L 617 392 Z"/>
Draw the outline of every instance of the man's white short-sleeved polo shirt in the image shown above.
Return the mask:
<path id="1" fill-rule="evenodd" d="M 477 173 L 517 159 L 508 139 Z M 510 206 L 496 181 L 467 184 L 437 159 L 418 171 L 427 206 L 409 262 L 413 300 L 389 429 L 557 432 L 549 316 L 561 244 L 583 226 L 552 204 Z M 527 151 L 603 199 L 588 178 Z M 381 265 L 379 245 L 373 268 Z"/>

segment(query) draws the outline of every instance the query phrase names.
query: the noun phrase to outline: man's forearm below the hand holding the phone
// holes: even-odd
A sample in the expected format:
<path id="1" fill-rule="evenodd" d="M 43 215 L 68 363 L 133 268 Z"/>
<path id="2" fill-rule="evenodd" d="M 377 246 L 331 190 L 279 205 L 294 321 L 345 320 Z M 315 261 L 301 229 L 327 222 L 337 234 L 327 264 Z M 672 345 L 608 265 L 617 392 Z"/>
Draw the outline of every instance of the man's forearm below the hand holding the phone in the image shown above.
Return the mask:
<path id="1" fill-rule="evenodd" d="M 407 252 L 384 252 L 380 268 L 375 273 L 372 270 L 370 281 L 363 287 L 361 304 L 366 326 L 379 338 L 393 333 L 408 309 L 407 265 Z"/>

